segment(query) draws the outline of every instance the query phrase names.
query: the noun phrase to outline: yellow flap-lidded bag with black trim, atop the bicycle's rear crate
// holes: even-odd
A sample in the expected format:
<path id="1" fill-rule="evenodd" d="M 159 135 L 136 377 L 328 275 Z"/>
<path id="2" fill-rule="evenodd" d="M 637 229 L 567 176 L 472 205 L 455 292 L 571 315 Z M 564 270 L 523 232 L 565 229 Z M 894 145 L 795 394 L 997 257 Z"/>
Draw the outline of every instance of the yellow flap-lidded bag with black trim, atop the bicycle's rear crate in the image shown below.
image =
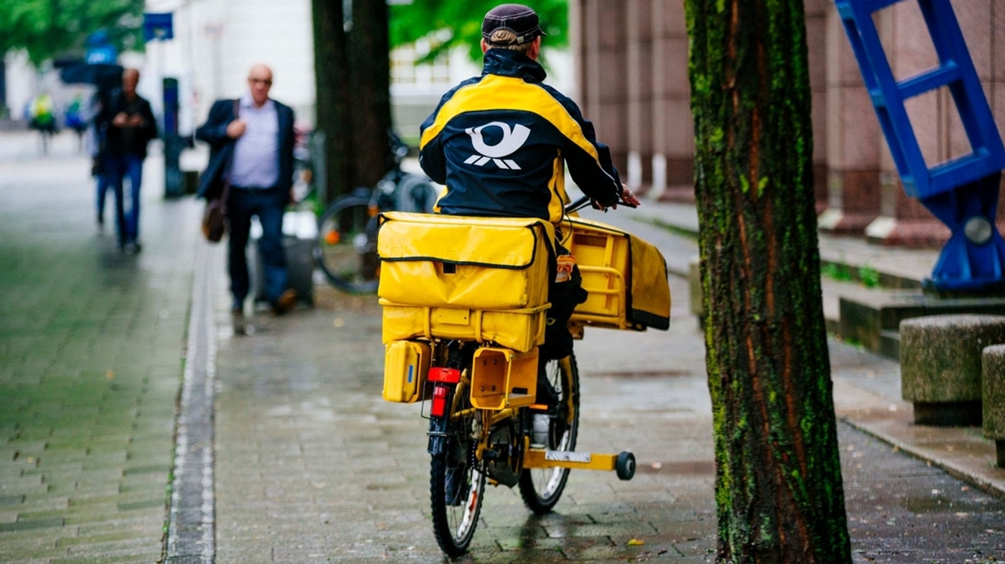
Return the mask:
<path id="1" fill-rule="evenodd" d="M 377 293 L 395 303 L 428 307 L 540 306 L 548 302 L 554 233 L 540 219 L 383 214 Z"/>

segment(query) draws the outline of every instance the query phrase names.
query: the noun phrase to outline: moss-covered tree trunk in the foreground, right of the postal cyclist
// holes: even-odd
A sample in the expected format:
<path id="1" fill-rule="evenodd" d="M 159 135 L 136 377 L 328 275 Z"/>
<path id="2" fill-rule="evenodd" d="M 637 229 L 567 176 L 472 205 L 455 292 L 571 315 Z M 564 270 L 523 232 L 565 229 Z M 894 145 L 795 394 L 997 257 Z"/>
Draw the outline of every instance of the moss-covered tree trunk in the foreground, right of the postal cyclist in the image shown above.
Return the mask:
<path id="1" fill-rule="evenodd" d="M 685 0 L 719 562 L 851 561 L 802 0 Z"/>

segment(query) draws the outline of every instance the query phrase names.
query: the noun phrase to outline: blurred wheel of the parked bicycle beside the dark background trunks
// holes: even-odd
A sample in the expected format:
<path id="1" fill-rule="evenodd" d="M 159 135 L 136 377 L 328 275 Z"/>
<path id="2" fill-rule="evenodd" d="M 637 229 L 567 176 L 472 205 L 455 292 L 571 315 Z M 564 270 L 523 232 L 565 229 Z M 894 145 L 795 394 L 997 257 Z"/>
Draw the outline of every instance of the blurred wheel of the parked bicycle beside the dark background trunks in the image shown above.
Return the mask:
<path id="1" fill-rule="evenodd" d="M 369 199 L 347 196 L 329 206 L 318 224 L 315 260 L 336 288 L 358 294 L 377 291 L 377 218 L 370 214 Z"/>

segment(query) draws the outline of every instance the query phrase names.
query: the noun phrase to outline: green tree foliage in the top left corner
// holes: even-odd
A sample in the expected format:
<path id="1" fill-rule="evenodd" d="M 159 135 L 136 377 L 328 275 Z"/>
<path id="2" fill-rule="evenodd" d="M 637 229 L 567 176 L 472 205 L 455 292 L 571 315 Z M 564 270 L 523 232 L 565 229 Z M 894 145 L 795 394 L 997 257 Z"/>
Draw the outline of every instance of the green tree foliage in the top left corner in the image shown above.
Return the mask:
<path id="1" fill-rule="evenodd" d="M 26 49 L 35 65 L 60 55 L 83 55 L 87 35 L 106 29 L 120 50 L 142 49 L 144 0 L 3 0 L 0 56 Z"/>

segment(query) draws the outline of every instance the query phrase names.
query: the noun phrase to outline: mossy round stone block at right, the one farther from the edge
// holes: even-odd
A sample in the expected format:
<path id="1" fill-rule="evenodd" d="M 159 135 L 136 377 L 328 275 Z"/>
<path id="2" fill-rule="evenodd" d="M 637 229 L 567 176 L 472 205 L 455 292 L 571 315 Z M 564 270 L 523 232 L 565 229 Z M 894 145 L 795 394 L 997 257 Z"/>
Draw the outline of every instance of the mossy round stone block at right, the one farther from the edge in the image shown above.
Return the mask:
<path id="1" fill-rule="evenodd" d="M 900 322 L 900 392 L 915 422 L 980 425 L 981 352 L 1005 342 L 1005 316 L 933 315 Z"/>

